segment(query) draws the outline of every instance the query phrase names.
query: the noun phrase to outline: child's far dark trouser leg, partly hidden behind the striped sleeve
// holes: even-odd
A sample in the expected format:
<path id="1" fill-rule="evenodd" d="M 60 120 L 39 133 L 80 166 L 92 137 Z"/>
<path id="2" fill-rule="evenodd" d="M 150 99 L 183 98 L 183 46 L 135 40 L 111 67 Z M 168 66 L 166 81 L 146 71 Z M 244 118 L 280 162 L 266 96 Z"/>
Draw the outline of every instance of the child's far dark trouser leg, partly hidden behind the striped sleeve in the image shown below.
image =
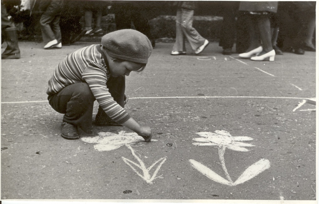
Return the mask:
<path id="1" fill-rule="evenodd" d="M 114 100 L 124 108 L 124 93 L 125 93 L 125 77 L 112 77 L 108 79 L 107 83 L 108 91 Z M 98 113 L 95 116 L 95 121 L 112 121 L 110 117 L 99 106 Z"/>

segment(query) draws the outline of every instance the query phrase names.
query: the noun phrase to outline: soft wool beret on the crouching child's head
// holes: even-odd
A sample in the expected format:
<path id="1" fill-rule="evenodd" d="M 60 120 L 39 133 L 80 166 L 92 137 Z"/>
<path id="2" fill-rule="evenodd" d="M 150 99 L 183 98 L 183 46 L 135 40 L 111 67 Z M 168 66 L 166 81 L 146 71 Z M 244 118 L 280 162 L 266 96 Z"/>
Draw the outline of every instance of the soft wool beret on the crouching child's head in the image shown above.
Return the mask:
<path id="1" fill-rule="evenodd" d="M 108 33 L 102 37 L 101 44 L 109 56 L 141 64 L 147 64 L 153 49 L 146 35 L 132 29 Z"/>

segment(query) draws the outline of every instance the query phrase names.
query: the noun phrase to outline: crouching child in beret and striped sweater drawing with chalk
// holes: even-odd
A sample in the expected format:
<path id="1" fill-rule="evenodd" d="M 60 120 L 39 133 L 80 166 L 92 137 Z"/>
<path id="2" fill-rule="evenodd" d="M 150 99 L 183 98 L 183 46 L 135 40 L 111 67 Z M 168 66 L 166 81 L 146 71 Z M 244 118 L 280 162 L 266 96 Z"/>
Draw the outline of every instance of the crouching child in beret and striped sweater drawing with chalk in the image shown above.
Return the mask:
<path id="1" fill-rule="evenodd" d="M 140 126 L 123 109 L 128 97 L 125 76 L 145 69 L 152 53 L 150 40 L 142 33 L 123 29 L 104 35 L 101 44 L 79 49 L 60 62 L 48 81 L 48 101 L 63 113 L 61 136 L 78 139 L 78 128 L 92 133 L 95 100 L 99 110 L 95 125 L 122 125 L 151 141 L 152 130 Z"/>

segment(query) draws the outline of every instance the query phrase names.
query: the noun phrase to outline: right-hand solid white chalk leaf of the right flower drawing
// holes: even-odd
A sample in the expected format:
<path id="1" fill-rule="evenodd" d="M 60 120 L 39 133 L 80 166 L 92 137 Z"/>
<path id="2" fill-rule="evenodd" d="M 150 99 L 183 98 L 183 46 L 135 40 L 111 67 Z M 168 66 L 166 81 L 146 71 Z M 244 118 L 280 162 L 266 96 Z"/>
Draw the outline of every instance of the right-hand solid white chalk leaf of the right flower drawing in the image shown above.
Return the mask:
<path id="1" fill-rule="evenodd" d="M 260 159 L 258 162 L 248 167 L 241 176 L 234 182 L 234 185 L 242 184 L 251 178 L 254 178 L 261 172 L 270 168 L 270 162 L 267 159 Z"/>

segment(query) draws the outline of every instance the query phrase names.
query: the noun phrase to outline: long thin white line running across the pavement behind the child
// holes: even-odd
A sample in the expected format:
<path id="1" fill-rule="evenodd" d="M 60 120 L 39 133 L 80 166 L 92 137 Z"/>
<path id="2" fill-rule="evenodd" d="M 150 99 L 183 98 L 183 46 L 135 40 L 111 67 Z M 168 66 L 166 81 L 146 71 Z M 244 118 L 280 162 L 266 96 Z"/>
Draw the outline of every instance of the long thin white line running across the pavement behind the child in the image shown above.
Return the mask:
<path id="1" fill-rule="evenodd" d="M 278 98 L 278 99 L 311 99 L 299 97 L 276 97 L 276 96 L 167 96 L 167 97 L 133 97 L 130 99 L 162 99 L 162 98 Z M 10 103 L 38 103 L 48 101 L 17 101 L 17 102 L 1 102 L 1 104 Z"/>

